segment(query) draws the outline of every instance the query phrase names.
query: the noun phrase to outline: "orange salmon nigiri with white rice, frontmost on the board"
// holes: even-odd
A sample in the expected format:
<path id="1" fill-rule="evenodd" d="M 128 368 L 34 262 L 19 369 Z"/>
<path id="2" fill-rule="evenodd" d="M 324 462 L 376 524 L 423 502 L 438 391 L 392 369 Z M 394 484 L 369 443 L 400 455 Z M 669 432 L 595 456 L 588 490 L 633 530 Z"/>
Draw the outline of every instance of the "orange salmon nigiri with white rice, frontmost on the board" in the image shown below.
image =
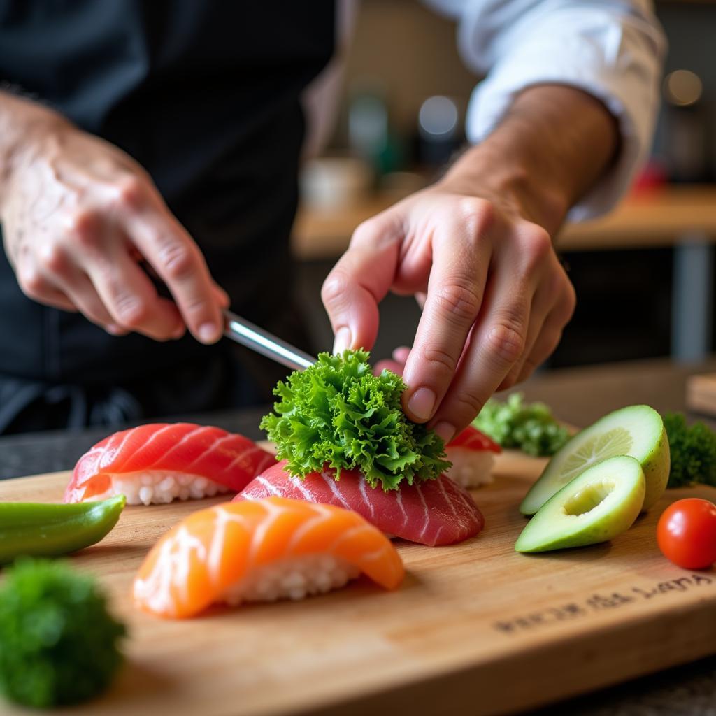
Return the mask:
<path id="1" fill-rule="evenodd" d="M 215 602 L 304 599 L 361 572 L 386 589 L 404 574 L 395 547 L 357 513 L 302 500 L 223 503 L 185 518 L 147 555 L 135 605 L 181 619 Z"/>

